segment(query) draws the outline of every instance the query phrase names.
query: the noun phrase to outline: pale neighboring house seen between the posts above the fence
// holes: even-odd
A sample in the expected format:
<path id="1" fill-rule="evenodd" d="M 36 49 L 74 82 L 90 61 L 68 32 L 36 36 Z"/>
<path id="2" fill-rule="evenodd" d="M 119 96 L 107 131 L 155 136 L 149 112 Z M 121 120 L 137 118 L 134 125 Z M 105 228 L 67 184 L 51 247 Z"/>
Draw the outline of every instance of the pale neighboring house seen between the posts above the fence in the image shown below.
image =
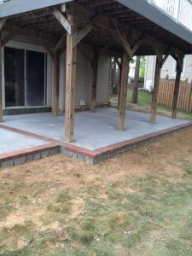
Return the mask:
<path id="1" fill-rule="evenodd" d="M 145 78 L 144 78 L 144 88 L 147 90 L 151 90 L 154 88 L 154 71 L 155 71 L 155 62 L 156 56 L 151 55 L 146 58 L 146 69 L 145 69 Z M 176 78 L 176 61 L 169 56 L 163 65 L 160 77 L 165 79 L 166 77 L 169 79 Z M 183 61 L 183 73 L 181 75 L 181 80 L 189 81 L 192 80 L 192 55 L 185 55 Z"/>

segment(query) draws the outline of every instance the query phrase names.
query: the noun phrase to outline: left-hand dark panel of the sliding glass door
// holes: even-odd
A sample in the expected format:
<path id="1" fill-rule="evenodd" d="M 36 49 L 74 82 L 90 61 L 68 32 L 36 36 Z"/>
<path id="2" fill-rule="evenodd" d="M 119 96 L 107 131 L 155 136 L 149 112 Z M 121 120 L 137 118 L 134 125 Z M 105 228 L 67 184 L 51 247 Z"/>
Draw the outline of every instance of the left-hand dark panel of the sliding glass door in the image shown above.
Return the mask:
<path id="1" fill-rule="evenodd" d="M 4 48 L 5 106 L 25 106 L 25 51 Z"/>

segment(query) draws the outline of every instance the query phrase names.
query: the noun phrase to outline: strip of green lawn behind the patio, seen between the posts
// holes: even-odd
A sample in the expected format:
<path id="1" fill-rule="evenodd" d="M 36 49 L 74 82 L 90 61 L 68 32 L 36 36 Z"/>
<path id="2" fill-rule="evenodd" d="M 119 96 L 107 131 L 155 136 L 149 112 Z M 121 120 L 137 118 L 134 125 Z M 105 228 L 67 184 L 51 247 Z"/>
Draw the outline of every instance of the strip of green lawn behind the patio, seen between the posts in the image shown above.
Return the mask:
<path id="1" fill-rule="evenodd" d="M 137 104 L 131 104 L 131 96 L 132 96 L 132 90 L 127 90 L 127 105 L 126 107 L 131 110 L 142 110 L 145 112 L 150 111 L 151 107 L 151 101 L 152 101 L 152 95 L 145 91 L 139 91 L 138 92 L 138 102 Z M 116 108 L 118 105 L 118 97 L 112 96 L 110 98 L 110 104 L 112 107 Z M 168 108 L 166 106 L 158 105 L 157 108 L 158 113 L 165 114 L 168 116 L 171 116 L 172 109 Z M 184 119 L 192 119 L 192 113 L 186 113 L 183 111 L 177 112 L 178 118 L 184 118 Z"/>

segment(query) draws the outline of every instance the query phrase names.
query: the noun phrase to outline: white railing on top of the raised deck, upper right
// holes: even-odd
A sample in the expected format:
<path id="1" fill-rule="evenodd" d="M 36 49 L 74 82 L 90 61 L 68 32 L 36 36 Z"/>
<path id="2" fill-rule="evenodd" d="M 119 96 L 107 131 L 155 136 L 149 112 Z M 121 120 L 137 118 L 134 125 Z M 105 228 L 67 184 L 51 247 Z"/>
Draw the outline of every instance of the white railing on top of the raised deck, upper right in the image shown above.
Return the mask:
<path id="1" fill-rule="evenodd" d="M 192 32 L 192 0 L 146 0 Z"/>

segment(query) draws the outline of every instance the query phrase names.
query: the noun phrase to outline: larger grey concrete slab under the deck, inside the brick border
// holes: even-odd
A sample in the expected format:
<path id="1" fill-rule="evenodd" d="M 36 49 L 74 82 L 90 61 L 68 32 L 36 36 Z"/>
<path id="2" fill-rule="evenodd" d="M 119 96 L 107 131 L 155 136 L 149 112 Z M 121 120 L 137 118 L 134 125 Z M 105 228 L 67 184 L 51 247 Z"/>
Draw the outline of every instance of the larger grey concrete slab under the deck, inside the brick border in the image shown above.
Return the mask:
<path id="1" fill-rule="evenodd" d="M 114 108 L 97 108 L 96 113 L 89 111 L 75 113 L 75 142 L 73 144 L 88 149 L 102 148 L 187 122 L 189 121 L 158 116 L 157 123 L 152 125 L 149 123 L 148 113 L 127 111 L 125 131 L 118 131 L 118 111 Z M 3 124 L 45 137 L 60 140 L 64 137 L 63 115 L 55 117 L 52 113 L 32 113 L 5 116 Z M 31 140 L 30 138 L 29 141 Z M 20 139 L 17 138 L 17 142 L 20 143 Z M 10 144 L 12 144 L 11 141 Z"/>

